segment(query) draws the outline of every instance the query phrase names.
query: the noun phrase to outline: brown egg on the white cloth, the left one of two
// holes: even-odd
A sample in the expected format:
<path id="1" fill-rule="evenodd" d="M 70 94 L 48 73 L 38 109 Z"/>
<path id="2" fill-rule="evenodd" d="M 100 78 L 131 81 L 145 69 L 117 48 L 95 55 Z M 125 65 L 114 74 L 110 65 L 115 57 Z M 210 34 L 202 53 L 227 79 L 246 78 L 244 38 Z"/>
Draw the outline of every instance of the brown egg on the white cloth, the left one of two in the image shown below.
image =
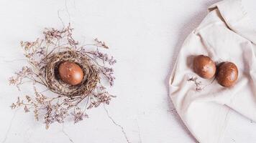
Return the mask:
<path id="1" fill-rule="evenodd" d="M 193 59 L 193 70 L 204 79 L 211 79 L 216 73 L 216 65 L 209 56 L 198 55 Z"/>

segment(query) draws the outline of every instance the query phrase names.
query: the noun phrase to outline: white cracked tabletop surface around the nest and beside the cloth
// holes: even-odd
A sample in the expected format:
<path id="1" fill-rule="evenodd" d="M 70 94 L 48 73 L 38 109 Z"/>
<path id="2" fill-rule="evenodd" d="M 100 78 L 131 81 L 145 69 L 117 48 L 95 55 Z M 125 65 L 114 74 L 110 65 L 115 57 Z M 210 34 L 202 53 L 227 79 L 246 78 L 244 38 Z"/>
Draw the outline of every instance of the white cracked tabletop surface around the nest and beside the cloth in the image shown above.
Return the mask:
<path id="1" fill-rule="evenodd" d="M 83 122 L 53 124 L 48 130 L 32 114 L 9 108 L 22 94 L 7 82 L 25 63 L 19 41 L 42 36 L 45 27 L 62 28 L 58 13 L 65 25 L 71 22 L 78 39 L 90 43 L 98 37 L 111 47 L 109 51 L 118 60 L 116 84 L 111 88 L 117 98 L 106 108 L 130 142 L 196 142 L 168 98 L 168 77 L 183 40 L 216 1 L 1 0 L 0 142 L 127 142 L 103 107 L 91 109 Z M 237 129 L 242 135 L 226 141 L 245 142 L 256 134 L 256 129 L 249 136 L 244 131 Z"/>

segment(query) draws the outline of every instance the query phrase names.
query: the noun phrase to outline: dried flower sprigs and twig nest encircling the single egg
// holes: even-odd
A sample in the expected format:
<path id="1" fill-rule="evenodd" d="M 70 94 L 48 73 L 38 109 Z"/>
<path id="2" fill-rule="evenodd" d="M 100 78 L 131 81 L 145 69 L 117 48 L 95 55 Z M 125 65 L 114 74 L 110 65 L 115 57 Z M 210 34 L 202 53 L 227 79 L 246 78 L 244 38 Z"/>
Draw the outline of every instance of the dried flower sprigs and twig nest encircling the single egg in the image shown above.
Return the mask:
<path id="1" fill-rule="evenodd" d="M 70 24 L 61 29 L 45 29 L 43 38 L 35 41 L 21 41 L 24 56 L 29 66 L 15 73 L 9 79 L 9 84 L 19 90 L 22 84 L 31 82 L 33 95 L 18 97 L 12 103 L 12 109 L 22 107 L 24 112 L 33 112 L 35 119 L 42 119 L 46 129 L 54 122 L 63 123 L 67 117 L 72 117 L 77 123 L 88 117 L 86 109 L 109 104 L 114 96 L 106 91 L 101 79 L 106 79 L 110 86 L 114 85 L 114 69 L 116 59 L 104 54 L 100 47 L 109 49 L 104 41 L 95 39 L 95 44 L 80 45 L 73 38 Z M 94 46 L 89 50 L 88 46 Z M 61 61 L 74 61 L 83 67 L 85 77 L 79 86 L 70 86 L 58 79 L 56 68 Z M 39 92 L 38 86 L 45 87 Z M 45 94 L 50 91 L 53 94 Z M 82 101 L 87 101 L 82 104 Z"/>

